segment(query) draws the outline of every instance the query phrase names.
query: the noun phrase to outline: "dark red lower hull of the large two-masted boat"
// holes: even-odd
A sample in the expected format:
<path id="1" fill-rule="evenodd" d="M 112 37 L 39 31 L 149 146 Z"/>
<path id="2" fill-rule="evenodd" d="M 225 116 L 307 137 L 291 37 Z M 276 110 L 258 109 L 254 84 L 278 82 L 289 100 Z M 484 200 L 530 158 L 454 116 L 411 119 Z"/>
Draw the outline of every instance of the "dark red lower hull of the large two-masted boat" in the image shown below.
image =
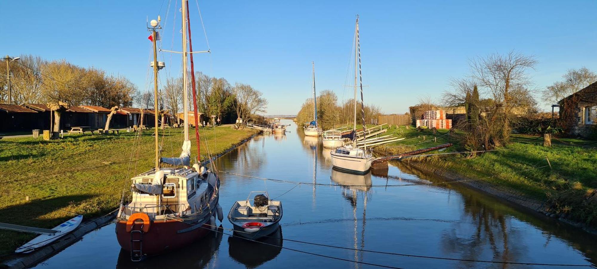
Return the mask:
<path id="1" fill-rule="evenodd" d="M 201 239 L 210 231 L 210 226 L 204 224 L 202 227 L 197 227 L 195 230 L 187 231 L 185 233 L 177 233 L 177 231 L 193 226 L 194 225 L 176 220 L 151 221 L 149 231 L 143 233 L 143 255 L 158 255 L 183 247 L 186 244 Z M 116 222 L 116 239 L 118 239 L 118 243 L 122 249 L 130 252 L 131 233 L 127 233 L 126 227 L 127 221 Z M 133 230 L 141 230 L 141 223 L 135 223 L 133 225 Z M 138 249 L 138 245 L 136 245 L 135 248 Z"/>

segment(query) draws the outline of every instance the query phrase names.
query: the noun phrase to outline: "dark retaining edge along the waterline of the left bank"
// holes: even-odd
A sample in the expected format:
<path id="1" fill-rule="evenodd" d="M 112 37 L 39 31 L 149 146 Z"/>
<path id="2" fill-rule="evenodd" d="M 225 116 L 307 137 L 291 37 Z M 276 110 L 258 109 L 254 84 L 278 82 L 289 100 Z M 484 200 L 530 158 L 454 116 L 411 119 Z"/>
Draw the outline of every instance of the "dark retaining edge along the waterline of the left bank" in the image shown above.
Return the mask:
<path id="1" fill-rule="evenodd" d="M 233 144 L 232 146 L 230 146 L 230 148 L 227 148 L 226 150 L 220 152 L 219 154 L 216 154 L 216 156 L 212 157 L 210 160 L 203 161 L 201 164 L 204 166 L 207 166 L 207 164 L 210 163 L 212 160 L 217 160 L 217 158 L 220 158 L 222 155 L 227 154 L 228 152 L 232 151 L 235 148 L 238 148 L 239 146 L 243 145 L 244 143 L 247 143 L 249 140 L 253 139 L 255 136 L 261 135 L 261 133 L 263 133 L 263 132 L 254 133 L 253 135 L 241 140 L 240 142 Z M 82 237 L 85 236 L 86 234 L 91 233 L 92 231 L 97 230 L 106 225 L 109 225 L 110 222 L 112 222 L 116 218 L 117 214 L 118 214 L 118 207 L 116 207 L 116 209 L 113 209 L 110 213 L 107 213 L 104 216 L 93 219 L 92 221 L 85 222 L 85 224 L 76 228 L 74 231 L 67 234 L 63 238 L 57 240 L 56 242 L 54 242 L 52 244 L 48 244 L 45 247 L 41 247 L 41 249 L 35 250 L 34 252 L 32 252 L 29 255 L 20 256 L 20 257 L 17 257 L 14 259 L 9 259 L 5 262 L 2 262 L 2 264 L 0 264 L 0 268 L 23 269 L 23 268 L 33 267 L 36 264 L 39 264 L 39 262 L 42 262 L 45 259 L 51 258 L 52 256 L 56 255 L 60 251 L 66 249 L 66 247 L 69 247 L 70 245 L 76 243 L 77 241 L 82 239 Z"/>

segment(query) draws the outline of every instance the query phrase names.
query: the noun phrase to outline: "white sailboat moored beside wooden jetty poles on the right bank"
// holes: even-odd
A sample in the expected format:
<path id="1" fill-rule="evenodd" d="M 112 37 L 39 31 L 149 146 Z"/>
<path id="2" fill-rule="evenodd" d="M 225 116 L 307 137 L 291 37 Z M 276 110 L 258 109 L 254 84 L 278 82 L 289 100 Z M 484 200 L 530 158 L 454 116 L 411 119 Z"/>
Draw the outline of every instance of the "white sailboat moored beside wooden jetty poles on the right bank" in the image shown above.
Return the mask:
<path id="1" fill-rule="evenodd" d="M 356 133 L 356 78 L 359 76 L 361 87 L 361 120 L 363 130 L 365 128 L 365 111 L 363 103 L 363 83 L 361 76 L 361 48 L 359 47 L 359 17 L 356 17 L 355 26 L 355 114 L 353 122 L 353 132 Z M 367 145 L 359 148 L 356 145 L 356 136 L 353 137 L 352 145 L 344 145 L 331 152 L 332 165 L 337 169 L 350 173 L 365 174 L 371 169 L 373 155 L 367 151 Z"/>

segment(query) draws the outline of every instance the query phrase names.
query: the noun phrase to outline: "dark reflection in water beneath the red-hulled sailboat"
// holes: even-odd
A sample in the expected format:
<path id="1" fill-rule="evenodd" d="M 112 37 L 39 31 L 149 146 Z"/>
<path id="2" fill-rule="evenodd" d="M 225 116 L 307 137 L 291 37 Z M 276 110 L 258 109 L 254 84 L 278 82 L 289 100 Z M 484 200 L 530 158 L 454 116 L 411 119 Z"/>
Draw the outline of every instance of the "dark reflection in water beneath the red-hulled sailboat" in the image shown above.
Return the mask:
<path id="1" fill-rule="evenodd" d="M 200 268 L 209 264 L 220 247 L 223 228 L 210 231 L 200 240 L 186 247 L 175 249 L 170 253 L 150 256 L 142 262 L 131 261 L 131 253 L 120 250 L 116 268 Z"/>

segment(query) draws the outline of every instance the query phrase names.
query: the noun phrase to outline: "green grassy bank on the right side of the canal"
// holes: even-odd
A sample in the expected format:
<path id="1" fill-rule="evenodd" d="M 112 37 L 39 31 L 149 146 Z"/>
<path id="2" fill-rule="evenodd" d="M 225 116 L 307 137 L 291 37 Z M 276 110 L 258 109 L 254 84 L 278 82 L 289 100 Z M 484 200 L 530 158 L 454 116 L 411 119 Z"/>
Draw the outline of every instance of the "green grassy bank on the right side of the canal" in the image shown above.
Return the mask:
<path id="1" fill-rule="evenodd" d="M 446 152 L 464 151 L 456 135 L 448 130 L 418 132 L 396 129 L 393 135 L 407 139 L 378 148 L 383 154 L 398 154 L 441 143 L 454 143 Z M 425 140 L 423 140 L 423 136 Z M 438 137 L 437 142 L 433 137 Z M 427 141 L 427 142 L 426 142 Z M 417 145 L 414 145 L 417 144 Z M 504 151 L 485 152 L 474 158 L 463 154 L 407 159 L 442 167 L 466 178 L 482 178 L 553 204 L 552 212 L 597 227 L 597 142 L 581 139 L 554 139 L 543 146 L 542 137 L 513 135 Z M 430 154 L 438 152 L 429 152 Z M 549 163 L 548 161 L 549 160 Z"/>

